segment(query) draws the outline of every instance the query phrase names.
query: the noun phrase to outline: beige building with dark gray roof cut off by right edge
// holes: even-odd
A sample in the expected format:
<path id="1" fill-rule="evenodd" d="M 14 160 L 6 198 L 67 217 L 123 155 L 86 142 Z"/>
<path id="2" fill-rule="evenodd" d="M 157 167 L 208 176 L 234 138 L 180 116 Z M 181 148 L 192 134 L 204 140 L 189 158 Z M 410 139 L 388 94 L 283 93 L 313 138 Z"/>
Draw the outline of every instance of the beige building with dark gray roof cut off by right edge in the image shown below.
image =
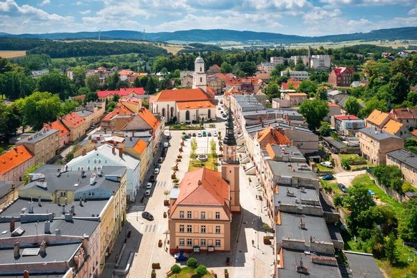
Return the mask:
<path id="1" fill-rule="evenodd" d="M 400 168 L 404 179 L 416 186 L 417 181 L 417 157 L 407 149 L 397 149 L 386 153 L 386 165 L 396 165 Z"/>

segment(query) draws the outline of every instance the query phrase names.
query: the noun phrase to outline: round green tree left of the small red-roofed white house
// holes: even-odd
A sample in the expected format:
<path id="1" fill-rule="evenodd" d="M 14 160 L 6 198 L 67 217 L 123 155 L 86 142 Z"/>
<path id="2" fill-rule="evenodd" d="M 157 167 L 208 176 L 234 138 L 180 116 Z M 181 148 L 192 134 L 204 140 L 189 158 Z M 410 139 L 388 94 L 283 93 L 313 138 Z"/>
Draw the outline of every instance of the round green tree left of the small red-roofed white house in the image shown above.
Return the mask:
<path id="1" fill-rule="evenodd" d="M 329 111 L 327 103 L 320 99 L 306 100 L 300 106 L 300 113 L 306 118 L 309 129 L 313 131 L 320 127 Z"/>

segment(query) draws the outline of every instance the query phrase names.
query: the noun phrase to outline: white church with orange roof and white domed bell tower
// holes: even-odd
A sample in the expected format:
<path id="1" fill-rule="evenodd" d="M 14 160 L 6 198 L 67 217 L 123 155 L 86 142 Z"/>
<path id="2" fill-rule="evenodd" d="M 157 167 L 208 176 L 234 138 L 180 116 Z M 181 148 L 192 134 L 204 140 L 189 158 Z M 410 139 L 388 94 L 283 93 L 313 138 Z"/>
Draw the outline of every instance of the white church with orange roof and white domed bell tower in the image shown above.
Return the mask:
<path id="1" fill-rule="evenodd" d="M 198 123 L 216 119 L 214 92 L 206 84 L 204 60 L 195 59 L 193 88 L 162 90 L 149 99 L 152 113 L 161 115 L 165 122 Z"/>

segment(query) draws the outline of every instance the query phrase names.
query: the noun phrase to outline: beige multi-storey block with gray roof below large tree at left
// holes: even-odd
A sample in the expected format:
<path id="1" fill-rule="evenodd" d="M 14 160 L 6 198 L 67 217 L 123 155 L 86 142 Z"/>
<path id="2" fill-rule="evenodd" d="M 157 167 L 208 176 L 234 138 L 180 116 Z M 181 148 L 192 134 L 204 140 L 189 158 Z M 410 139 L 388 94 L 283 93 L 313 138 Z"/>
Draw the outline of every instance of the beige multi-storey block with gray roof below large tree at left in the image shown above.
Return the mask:
<path id="1" fill-rule="evenodd" d="M 42 129 L 42 131 L 17 141 L 16 146 L 20 145 L 24 145 L 34 155 L 33 164 L 47 163 L 54 158 L 59 149 L 59 130 Z"/>

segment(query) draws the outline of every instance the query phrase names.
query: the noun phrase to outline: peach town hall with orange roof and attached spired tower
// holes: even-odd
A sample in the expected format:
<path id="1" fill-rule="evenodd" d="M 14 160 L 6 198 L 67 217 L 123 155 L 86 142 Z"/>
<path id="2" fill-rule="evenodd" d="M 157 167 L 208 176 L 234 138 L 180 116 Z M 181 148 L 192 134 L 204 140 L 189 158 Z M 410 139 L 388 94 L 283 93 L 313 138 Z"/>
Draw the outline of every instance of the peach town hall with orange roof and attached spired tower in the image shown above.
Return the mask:
<path id="1" fill-rule="evenodd" d="M 223 140 L 222 172 L 187 172 L 170 190 L 170 253 L 230 252 L 231 215 L 240 213 L 239 161 L 231 113 Z"/>

